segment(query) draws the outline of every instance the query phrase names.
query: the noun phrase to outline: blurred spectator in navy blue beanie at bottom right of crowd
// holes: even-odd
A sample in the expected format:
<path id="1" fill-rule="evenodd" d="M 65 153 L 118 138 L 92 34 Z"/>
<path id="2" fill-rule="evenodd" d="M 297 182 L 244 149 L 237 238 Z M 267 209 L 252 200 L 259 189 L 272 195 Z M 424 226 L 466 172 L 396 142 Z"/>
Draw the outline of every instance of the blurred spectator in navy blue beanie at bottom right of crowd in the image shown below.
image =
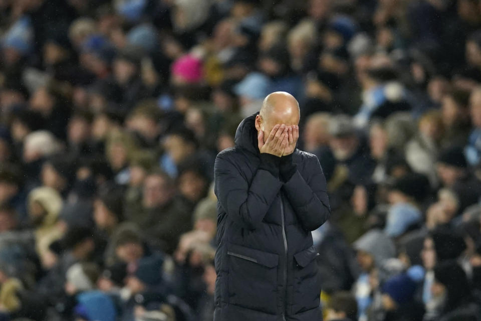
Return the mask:
<path id="1" fill-rule="evenodd" d="M 381 287 L 385 321 L 422 320 L 424 308 L 414 301 L 417 284 L 407 274 L 389 278 Z"/>

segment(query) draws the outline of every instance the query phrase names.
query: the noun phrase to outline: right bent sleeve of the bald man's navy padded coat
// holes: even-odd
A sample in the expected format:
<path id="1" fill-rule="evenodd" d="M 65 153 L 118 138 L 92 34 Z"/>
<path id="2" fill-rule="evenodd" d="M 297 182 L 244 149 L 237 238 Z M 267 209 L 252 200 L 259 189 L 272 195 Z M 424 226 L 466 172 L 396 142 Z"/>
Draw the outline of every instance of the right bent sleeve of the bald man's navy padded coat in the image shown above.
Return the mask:
<path id="1" fill-rule="evenodd" d="M 327 197 L 327 184 L 316 156 L 307 160 L 309 179 L 306 182 L 299 173 L 294 173 L 284 184 L 284 191 L 296 212 L 298 220 L 307 231 L 314 231 L 331 216 Z"/>

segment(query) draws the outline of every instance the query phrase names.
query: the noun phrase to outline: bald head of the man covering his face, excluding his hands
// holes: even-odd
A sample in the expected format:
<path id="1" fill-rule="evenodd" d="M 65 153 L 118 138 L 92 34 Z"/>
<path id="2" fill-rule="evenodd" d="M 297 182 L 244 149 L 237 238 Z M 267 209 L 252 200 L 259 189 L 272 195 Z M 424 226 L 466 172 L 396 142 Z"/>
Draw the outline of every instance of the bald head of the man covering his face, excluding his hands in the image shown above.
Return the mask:
<path id="1" fill-rule="evenodd" d="M 266 138 L 275 125 L 298 125 L 300 118 L 299 103 L 296 98 L 290 93 L 277 91 L 264 99 L 261 111 L 256 117 L 256 129 L 264 131 Z"/>

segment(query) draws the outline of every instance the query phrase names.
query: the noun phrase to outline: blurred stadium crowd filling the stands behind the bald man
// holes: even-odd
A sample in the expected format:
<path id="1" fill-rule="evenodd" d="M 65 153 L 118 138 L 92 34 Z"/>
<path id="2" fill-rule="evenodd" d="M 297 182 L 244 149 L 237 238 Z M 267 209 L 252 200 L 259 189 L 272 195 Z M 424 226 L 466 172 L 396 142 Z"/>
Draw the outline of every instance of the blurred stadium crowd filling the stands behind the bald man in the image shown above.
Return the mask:
<path id="1" fill-rule="evenodd" d="M 479 321 L 478 0 L 0 0 L 0 320 L 212 321 L 215 155 L 274 91 L 325 319 Z"/>

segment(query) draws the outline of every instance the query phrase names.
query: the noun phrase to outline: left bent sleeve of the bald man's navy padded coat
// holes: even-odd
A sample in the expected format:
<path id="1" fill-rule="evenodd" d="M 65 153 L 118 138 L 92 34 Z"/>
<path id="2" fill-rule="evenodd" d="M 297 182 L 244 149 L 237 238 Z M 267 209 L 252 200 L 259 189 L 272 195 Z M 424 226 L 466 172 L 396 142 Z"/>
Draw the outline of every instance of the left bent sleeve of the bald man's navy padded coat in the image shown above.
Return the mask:
<path id="1" fill-rule="evenodd" d="M 282 187 L 282 182 L 266 170 L 257 170 L 251 184 L 225 155 L 214 165 L 215 194 L 227 216 L 235 223 L 254 230 L 261 224 Z"/>

